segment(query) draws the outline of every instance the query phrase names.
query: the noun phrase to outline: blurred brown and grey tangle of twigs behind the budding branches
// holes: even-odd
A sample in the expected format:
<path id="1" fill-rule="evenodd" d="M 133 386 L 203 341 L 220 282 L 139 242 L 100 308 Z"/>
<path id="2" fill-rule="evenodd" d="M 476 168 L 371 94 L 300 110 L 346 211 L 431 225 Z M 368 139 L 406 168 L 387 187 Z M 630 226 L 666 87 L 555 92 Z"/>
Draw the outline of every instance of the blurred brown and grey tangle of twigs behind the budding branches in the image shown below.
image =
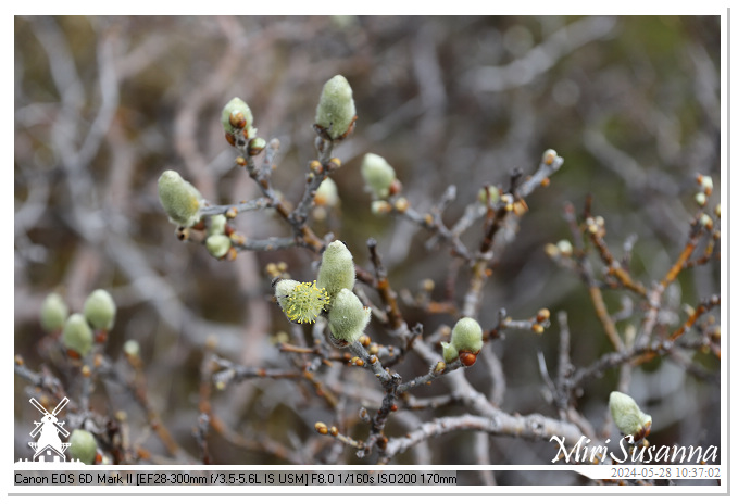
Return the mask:
<path id="1" fill-rule="evenodd" d="M 434 299 L 443 300 L 448 249 L 427 250 L 426 230 L 371 213 L 359 173 L 362 156 L 387 159 L 418 211 L 430 210 L 454 185 L 458 197 L 445 214 L 451 226 L 485 184 L 506 188 L 513 169 L 530 174 L 542 152 L 555 149 L 564 165 L 550 187 L 527 199 L 530 210 L 516 239 L 496 256 L 479 322 L 492 327 L 500 308 L 516 319 L 541 307 L 565 311 L 573 364 L 589 365 L 612 348 L 585 285 L 554 264 L 545 245 L 572 239 L 563 205 L 571 202 L 580 214 L 591 196 L 615 255 L 637 237 L 634 276 L 648 287 L 665 275 L 697 211 L 697 173 L 715 182 L 709 207 L 720 203 L 720 28 L 718 17 L 661 16 L 16 17 L 15 354 L 30 369 L 46 365 L 54 373 L 38 350 L 41 302 L 60 292 L 74 312 L 92 290 L 109 290 L 118 314 L 107 355 L 125 374 L 123 343 L 139 342 L 149 400 L 197 461 L 192 428 L 205 341 L 215 337 L 216 353 L 236 363 L 289 368 L 274 340 L 292 329 L 271 300 L 264 269 L 284 261 L 292 277 L 308 280 L 318 257 L 298 249 L 215 261 L 203 247 L 177 240 L 159 203 L 157 179 L 176 169 L 216 204 L 259 196 L 235 167 L 236 153 L 220 123 L 223 105 L 238 96 L 249 103 L 259 135 L 279 139 L 274 185 L 287 200 L 299 201 L 315 158 L 311 125 L 322 86 L 342 74 L 359 119 L 335 150 L 342 161 L 334 177 L 340 206 L 314 223 L 316 232 L 333 231 L 370 269 L 365 243 L 375 238 L 396 289 L 417 292 L 430 278 Z M 267 212 L 242 214 L 236 226 L 250 238 L 290 232 Z M 478 227 L 464 237 L 472 249 L 478 247 Z M 466 279 L 459 275 L 460 297 Z M 673 330 L 686 319 L 684 304 L 695 306 L 713 293 L 720 293 L 718 262 L 684 272 L 664 297 L 678 315 L 665 327 Z M 611 313 L 621 310 L 623 298 L 640 302 L 605 292 Z M 640 307 L 618 329 L 637 326 Z M 426 333 L 453 324 L 448 315 L 403 312 L 411 325 L 423 323 Z M 711 315 L 720 324 L 720 308 Z M 552 316 L 542 337 L 510 330 L 493 344 L 505 377 L 502 410 L 555 416 L 541 400 L 536 354 L 543 352 L 553 373 L 558 331 Z M 367 332 L 390 342 L 378 325 Z M 706 376 L 671 360 L 634 370 L 631 394 L 654 418 L 653 444 L 720 445 L 720 362 L 704 355 L 699 364 Z M 426 371 L 420 360 L 400 370 L 408 378 Z M 353 371 L 352 379 L 379 390 L 368 373 L 359 378 L 361 370 Z M 486 390 L 483 371 L 467 370 Z M 578 407 L 596 428 L 606 419 L 616 382 L 616 371 L 608 371 L 584 390 Z M 27 386 L 16 376 L 16 459 L 28 456 L 27 433 L 36 419 Z M 442 392 L 442 380 L 434 387 L 431 392 Z M 315 421 L 332 420 L 309 388 L 287 380 L 239 383 L 214 393 L 212 403 L 243 437 L 266 434 L 298 453 L 317 442 Z M 355 416 L 351 404 L 347 415 Z M 141 445 L 165 454 L 125 390 L 101 381 L 91 407 L 102 415 L 125 411 Z M 459 413 L 449 406 L 418 418 Z M 403 428 L 388 426 L 395 434 Z M 473 464 L 474 440 L 459 433 L 430 443 L 427 461 Z M 372 462 L 335 444 L 326 451 L 341 456 L 318 463 Z M 217 436 L 211 450 L 221 464 L 296 461 Z M 547 443 L 516 439 L 492 439 L 489 451 L 493 464 L 551 458 Z M 524 475 L 509 478 L 530 482 Z"/>

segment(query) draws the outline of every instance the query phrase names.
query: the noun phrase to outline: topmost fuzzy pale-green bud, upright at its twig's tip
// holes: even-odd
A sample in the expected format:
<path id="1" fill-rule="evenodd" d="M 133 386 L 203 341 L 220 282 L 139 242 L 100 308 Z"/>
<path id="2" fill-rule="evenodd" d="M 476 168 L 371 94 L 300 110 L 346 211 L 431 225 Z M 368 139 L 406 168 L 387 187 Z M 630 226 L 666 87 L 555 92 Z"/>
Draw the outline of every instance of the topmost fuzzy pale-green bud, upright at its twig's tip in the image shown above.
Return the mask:
<path id="1" fill-rule="evenodd" d="M 336 140 L 350 133 L 355 115 L 351 86 L 346 77 L 336 75 L 323 86 L 315 111 L 315 124 L 332 140 Z"/>

